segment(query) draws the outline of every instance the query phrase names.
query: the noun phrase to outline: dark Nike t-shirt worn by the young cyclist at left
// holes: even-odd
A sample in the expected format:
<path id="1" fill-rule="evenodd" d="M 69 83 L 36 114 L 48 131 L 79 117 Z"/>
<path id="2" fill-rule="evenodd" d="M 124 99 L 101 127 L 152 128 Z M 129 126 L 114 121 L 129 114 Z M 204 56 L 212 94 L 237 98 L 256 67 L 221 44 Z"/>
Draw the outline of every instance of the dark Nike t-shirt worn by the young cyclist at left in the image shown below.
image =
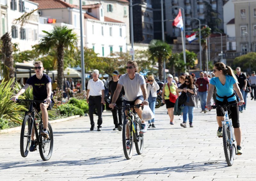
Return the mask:
<path id="1" fill-rule="evenodd" d="M 47 98 L 46 84 L 49 82 L 52 83 L 52 79 L 46 74 L 43 74 L 43 77 L 41 78 L 41 80 L 39 80 L 36 77 L 36 74 L 28 78 L 27 84 L 32 85 L 33 96 L 35 100 L 44 100 Z M 52 94 L 51 94 L 51 99 L 53 99 Z"/>

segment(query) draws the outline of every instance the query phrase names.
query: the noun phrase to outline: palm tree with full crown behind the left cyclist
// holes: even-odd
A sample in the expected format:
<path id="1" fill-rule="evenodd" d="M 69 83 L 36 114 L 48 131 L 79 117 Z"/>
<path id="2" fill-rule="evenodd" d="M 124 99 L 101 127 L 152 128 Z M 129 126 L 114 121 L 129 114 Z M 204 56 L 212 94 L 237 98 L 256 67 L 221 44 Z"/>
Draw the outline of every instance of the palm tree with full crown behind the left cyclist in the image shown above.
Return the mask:
<path id="1" fill-rule="evenodd" d="M 51 32 L 43 31 L 46 33 L 40 43 L 36 46 L 39 53 L 47 54 L 50 49 L 57 52 L 57 76 L 58 87 L 63 87 L 63 71 L 64 71 L 64 49 L 70 49 L 70 52 L 74 51 L 77 44 L 77 35 L 73 33 L 73 29 L 67 28 L 67 26 L 54 26 Z"/>

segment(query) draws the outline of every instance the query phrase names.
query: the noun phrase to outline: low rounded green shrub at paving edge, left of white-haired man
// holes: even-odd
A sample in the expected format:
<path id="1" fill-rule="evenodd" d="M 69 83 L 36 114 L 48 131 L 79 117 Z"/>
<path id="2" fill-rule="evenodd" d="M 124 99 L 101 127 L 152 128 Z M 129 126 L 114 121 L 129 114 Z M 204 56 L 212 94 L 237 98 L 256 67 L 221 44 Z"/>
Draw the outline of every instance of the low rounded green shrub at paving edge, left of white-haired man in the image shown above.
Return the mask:
<path id="1" fill-rule="evenodd" d="M 65 114 L 67 116 L 74 116 L 74 115 L 84 115 L 84 111 L 72 104 L 62 104 L 57 108 L 61 114 Z"/>

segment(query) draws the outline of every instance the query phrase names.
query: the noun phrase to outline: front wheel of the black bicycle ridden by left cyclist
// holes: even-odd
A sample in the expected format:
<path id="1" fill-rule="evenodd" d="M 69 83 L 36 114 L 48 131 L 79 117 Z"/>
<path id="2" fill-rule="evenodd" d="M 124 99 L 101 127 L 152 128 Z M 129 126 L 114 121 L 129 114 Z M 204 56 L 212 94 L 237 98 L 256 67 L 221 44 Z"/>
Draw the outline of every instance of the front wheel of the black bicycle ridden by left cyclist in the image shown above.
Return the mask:
<path id="1" fill-rule="evenodd" d="M 20 131 L 20 154 L 22 157 L 28 156 L 29 146 L 31 133 L 29 133 L 31 128 L 31 117 L 26 115 L 22 121 L 21 131 Z"/>

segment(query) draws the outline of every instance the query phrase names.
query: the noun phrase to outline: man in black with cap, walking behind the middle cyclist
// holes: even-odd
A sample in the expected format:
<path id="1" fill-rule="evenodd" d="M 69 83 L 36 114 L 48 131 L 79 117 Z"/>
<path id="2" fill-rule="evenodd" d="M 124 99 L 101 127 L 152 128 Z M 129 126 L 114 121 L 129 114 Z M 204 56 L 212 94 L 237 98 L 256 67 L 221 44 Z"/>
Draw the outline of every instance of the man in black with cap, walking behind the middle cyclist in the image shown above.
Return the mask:
<path id="1" fill-rule="evenodd" d="M 115 70 L 113 73 L 112 73 L 112 79 L 111 81 L 109 81 L 108 83 L 108 92 L 110 94 L 110 102 L 112 102 L 112 99 L 113 99 L 113 95 L 114 95 L 114 92 L 116 91 L 116 87 L 117 87 L 117 83 L 119 81 L 119 72 L 117 70 Z M 116 100 L 116 105 L 117 106 L 123 106 L 124 105 L 124 86 L 122 87 L 122 90 L 120 91 L 119 93 L 119 96 Z M 122 126 L 123 126 L 123 110 L 122 109 L 111 109 L 112 111 L 112 116 L 113 116 L 113 120 L 114 120 L 114 125 L 115 125 L 115 128 L 113 129 L 114 131 L 115 130 L 118 130 L 118 131 L 122 131 Z M 118 119 L 117 119 L 117 112 L 118 112 Z M 118 122 L 119 120 L 119 122 Z"/>

